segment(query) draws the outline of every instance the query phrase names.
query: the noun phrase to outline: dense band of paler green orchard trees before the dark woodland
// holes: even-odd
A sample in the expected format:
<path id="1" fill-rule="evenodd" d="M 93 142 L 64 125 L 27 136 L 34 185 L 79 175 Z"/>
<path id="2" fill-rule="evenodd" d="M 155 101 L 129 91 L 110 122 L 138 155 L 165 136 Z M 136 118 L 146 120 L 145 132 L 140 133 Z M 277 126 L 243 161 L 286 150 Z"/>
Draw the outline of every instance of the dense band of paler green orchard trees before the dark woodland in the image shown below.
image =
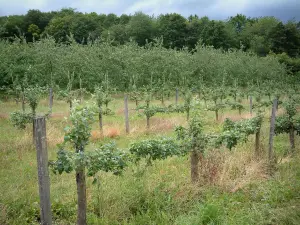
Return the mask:
<path id="1" fill-rule="evenodd" d="M 201 43 L 195 52 L 164 48 L 162 39 L 146 46 L 136 42 L 114 46 L 111 42 L 56 43 L 48 37 L 26 43 L 0 41 L 0 87 L 24 90 L 30 85 L 52 87 L 54 91 L 87 90 L 95 86 L 113 91 L 151 90 L 164 92 L 204 86 L 251 87 L 295 85 L 295 74 L 276 57 L 259 57 L 243 50 L 222 51 Z M 273 85 L 272 85 L 273 86 Z"/>

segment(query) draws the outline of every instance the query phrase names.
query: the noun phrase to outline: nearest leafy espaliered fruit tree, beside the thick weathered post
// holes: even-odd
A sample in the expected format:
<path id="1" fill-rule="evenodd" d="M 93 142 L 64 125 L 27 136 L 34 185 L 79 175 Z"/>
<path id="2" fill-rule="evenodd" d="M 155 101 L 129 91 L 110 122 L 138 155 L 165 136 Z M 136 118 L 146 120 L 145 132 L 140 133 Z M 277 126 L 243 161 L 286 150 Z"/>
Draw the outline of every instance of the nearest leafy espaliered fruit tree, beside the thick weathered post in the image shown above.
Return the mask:
<path id="1" fill-rule="evenodd" d="M 128 154 L 117 149 L 115 144 L 106 144 L 92 152 L 86 152 L 89 144 L 92 124 L 94 121 L 94 106 L 81 106 L 74 102 L 70 114 L 71 125 L 65 128 L 64 142 L 59 145 L 57 160 L 51 162 L 53 171 L 59 174 L 75 170 L 77 185 L 77 224 L 86 225 L 86 176 L 95 176 L 98 171 L 113 172 L 119 175 L 127 166 Z M 66 150 L 71 147 L 75 152 Z"/>

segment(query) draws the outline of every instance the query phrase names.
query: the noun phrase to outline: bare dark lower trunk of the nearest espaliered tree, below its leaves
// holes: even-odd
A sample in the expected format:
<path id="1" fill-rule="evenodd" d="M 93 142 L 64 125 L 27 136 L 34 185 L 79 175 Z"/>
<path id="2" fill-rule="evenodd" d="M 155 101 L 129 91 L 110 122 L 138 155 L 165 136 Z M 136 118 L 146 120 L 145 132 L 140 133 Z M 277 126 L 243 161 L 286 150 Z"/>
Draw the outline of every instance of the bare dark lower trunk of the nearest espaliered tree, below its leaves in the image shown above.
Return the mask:
<path id="1" fill-rule="evenodd" d="M 84 168 L 76 171 L 77 225 L 86 225 L 86 183 Z"/>

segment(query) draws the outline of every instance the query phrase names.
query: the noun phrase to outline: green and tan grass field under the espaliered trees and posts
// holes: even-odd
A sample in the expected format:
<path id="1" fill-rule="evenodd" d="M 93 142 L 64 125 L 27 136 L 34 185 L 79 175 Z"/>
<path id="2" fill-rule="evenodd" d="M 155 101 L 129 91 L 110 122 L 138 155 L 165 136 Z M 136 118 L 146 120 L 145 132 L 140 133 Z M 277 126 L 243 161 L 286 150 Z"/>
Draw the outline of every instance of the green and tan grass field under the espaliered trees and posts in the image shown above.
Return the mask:
<path id="1" fill-rule="evenodd" d="M 171 101 L 167 101 L 166 105 Z M 158 101 L 153 104 L 160 104 Z M 246 104 L 246 101 L 245 101 Z M 204 105 L 204 104 L 203 104 Z M 248 108 L 248 106 L 245 105 Z M 0 103 L 0 224 L 38 224 L 39 196 L 36 153 L 32 145 L 32 127 L 17 130 L 8 120 L 9 113 L 20 109 L 14 102 Z M 115 115 L 104 117 L 104 137 L 98 124 L 92 131 L 89 149 L 115 141 L 121 148 L 131 142 L 155 136 L 172 136 L 176 125 L 186 125 L 185 114 L 157 114 L 146 129 L 146 119 L 130 110 L 129 135 L 125 134 L 123 101 L 111 103 Z M 130 109 L 135 105 L 130 102 Z M 204 109 L 204 106 L 203 106 Z M 38 112 L 46 112 L 43 100 Z M 56 145 L 63 141 L 64 117 L 68 105 L 55 100 L 53 117 L 47 121 L 49 159 L 56 158 Z M 219 131 L 224 118 L 249 118 L 237 111 L 224 110 L 220 121 L 214 113 L 201 111 L 205 131 Z M 173 157 L 154 162 L 151 167 L 131 165 L 122 176 L 99 173 L 101 182 L 87 180 L 88 224 L 300 224 L 300 160 L 290 157 L 287 135 L 275 137 L 278 164 L 268 172 L 269 110 L 261 132 L 260 159 L 253 155 L 254 137 L 233 151 L 207 152 L 201 164 L 198 185 L 190 182 L 189 157 Z M 299 152 L 296 138 L 296 151 Z M 75 174 L 50 172 L 54 224 L 75 224 Z"/>

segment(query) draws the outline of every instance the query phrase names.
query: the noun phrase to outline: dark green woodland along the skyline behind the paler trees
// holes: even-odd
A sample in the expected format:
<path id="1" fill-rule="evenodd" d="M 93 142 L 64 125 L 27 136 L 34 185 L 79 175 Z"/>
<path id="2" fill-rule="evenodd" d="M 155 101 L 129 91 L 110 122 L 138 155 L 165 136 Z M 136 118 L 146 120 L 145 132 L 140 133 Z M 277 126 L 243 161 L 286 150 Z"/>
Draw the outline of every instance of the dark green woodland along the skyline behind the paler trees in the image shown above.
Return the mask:
<path id="1" fill-rule="evenodd" d="M 201 39 L 205 45 L 215 48 L 242 47 L 260 56 L 270 51 L 294 58 L 300 55 L 300 22 L 285 23 L 275 17 L 249 18 L 238 14 L 221 21 L 197 15 L 185 18 L 177 13 L 157 17 L 142 12 L 121 16 L 81 13 L 72 8 L 52 12 L 29 10 L 26 15 L 0 17 L 1 38 L 25 36 L 30 42 L 48 34 L 56 41 L 67 42 L 70 33 L 78 43 L 103 38 L 117 45 L 133 39 L 145 46 L 156 37 L 163 37 L 166 48 L 191 50 Z"/>

